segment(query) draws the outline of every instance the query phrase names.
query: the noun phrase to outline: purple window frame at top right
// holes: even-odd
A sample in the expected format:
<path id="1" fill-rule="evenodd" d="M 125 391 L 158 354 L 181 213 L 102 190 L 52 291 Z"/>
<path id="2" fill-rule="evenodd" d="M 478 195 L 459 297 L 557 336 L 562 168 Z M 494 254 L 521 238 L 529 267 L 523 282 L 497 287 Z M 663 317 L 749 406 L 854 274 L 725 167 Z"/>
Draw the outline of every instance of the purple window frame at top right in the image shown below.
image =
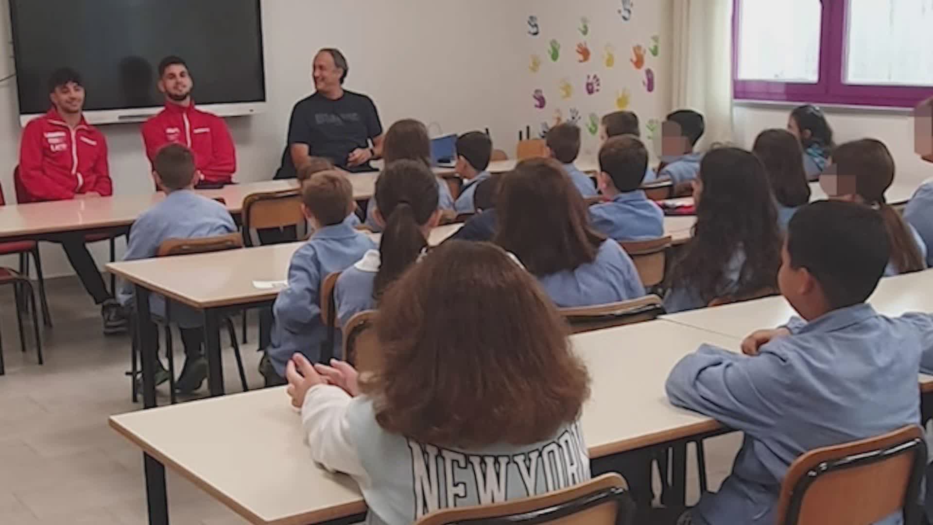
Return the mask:
<path id="1" fill-rule="evenodd" d="M 736 100 L 809 102 L 846 106 L 914 107 L 933 87 L 854 85 L 842 81 L 849 0 L 821 0 L 819 80 L 815 84 L 739 80 L 739 33 L 743 0 L 732 0 L 732 93 Z"/>

